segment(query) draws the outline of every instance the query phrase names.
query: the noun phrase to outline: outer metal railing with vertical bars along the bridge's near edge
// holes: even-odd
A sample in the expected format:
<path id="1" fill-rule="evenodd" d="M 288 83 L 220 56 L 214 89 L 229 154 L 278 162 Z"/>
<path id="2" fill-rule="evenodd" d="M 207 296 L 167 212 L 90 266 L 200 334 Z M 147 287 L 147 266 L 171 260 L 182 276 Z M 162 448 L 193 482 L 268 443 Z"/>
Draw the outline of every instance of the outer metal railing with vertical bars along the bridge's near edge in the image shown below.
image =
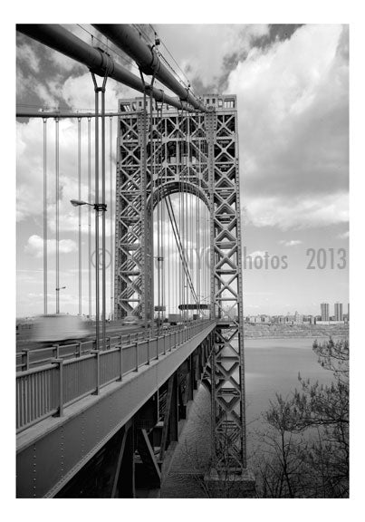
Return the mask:
<path id="1" fill-rule="evenodd" d="M 91 394 L 99 394 L 110 382 L 122 381 L 140 366 L 171 352 L 214 321 L 199 321 L 154 338 L 119 344 L 109 350 L 91 350 L 72 359 L 53 362 L 16 373 L 16 431 L 29 428 Z"/>

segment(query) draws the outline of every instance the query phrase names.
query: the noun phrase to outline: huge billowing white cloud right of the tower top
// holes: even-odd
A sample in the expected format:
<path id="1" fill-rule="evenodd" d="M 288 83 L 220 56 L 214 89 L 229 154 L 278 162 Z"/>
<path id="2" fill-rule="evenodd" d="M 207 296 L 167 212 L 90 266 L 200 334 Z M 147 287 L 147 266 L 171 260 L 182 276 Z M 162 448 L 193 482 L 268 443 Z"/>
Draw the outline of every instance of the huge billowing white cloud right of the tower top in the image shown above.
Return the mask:
<path id="1" fill-rule="evenodd" d="M 258 226 L 347 219 L 347 52 L 347 26 L 304 25 L 288 40 L 252 49 L 230 73 L 227 92 L 237 94 L 245 205 Z M 267 207 L 272 204 L 277 208 Z M 301 209 L 305 214 L 295 216 Z"/>

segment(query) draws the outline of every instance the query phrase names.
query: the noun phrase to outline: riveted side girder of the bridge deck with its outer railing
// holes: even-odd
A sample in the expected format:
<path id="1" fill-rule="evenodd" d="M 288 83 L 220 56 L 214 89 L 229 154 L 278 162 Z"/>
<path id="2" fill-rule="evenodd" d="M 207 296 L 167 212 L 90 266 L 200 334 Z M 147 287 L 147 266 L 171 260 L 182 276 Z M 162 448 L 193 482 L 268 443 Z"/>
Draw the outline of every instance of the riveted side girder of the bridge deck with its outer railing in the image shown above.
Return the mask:
<path id="1" fill-rule="evenodd" d="M 62 416 L 50 413 L 17 435 L 17 497 L 53 497 L 158 391 L 215 326 L 214 321 L 202 322 L 122 350 L 30 371 L 38 376 L 52 371 L 57 372 L 59 380 L 62 377 L 64 409 Z M 79 365 L 78 370 L 67 372 L 68 365 Z M 22 372 L 24 379 L 27 373 Z M 59 388 L 56 395 L 60 397 Z M 55 404 L 51 403 L 53 414 Z"/>

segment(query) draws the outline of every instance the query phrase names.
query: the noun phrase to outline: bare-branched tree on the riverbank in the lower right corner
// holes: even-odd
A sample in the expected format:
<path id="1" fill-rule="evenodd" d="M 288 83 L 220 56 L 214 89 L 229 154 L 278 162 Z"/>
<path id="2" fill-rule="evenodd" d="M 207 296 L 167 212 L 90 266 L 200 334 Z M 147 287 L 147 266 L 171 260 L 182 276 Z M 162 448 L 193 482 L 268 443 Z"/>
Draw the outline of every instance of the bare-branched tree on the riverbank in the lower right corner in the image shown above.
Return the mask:
<path id="1" fill-rule="evenodd" d="M 300 391 L 270 403 L 257 468 L 261 497 L 349 496 L 349 342 L 315 342 L 313 351 L 333 381 L 299 375 Z"/>

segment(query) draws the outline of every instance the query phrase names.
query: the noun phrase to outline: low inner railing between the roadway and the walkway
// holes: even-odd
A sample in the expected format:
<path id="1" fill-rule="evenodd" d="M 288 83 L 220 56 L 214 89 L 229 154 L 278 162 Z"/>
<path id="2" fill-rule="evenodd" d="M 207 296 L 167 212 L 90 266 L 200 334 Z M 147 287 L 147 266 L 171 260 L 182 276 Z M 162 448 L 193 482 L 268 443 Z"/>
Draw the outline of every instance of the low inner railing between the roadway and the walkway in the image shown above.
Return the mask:
<path id="1" fill-rule="evenodd" d="M 197 321 L 194 321 L 194 323 L 197 323 Z M 193 322 L 187 324 L 193 324 Z M 183 330 L 184 328 L 185 324 L 169 326 L 166 332 L 176 332 L 178 330 Z M 106 346 L 103 350 L 110 350 L 110 348 L 120 344 L 127 345 L 130 343 L 136 343 L 143 339 L 149 339 L 150 337 L 150 330 L 124 334 L 114 333 L 106 338 Z M 81 357 L 86 353 L 91 353 L 95 348 L 96 343 L 93 339 L 80 343 L 52 344 L 43 348 L 35 348 L 34 350 L 23 349 L 22 352 L 16 353 L 16 371 L 27 371 L 34 366 L 46 364 L 52 359 L 71 359 L 73 357 Z"/>

